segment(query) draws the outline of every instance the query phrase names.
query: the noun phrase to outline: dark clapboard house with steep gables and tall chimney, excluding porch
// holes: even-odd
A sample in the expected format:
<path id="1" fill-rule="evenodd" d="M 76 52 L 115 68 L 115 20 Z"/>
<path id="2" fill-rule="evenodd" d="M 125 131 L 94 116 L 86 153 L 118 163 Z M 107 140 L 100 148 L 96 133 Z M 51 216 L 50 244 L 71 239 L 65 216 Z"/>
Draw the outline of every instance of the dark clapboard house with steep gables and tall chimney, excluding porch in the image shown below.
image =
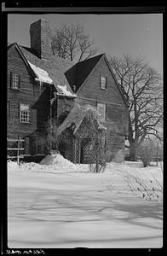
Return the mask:
<path id="1" fill-rule="evenodd" d="M 99 122 L 108 131 L 104 137 L 107 160 L 123 161 L 128 103 L 106 55 L 77 64 L 53 55 L 52 32 L 46 20 L 32 23 L 30 36 L 30 48 L 17 43 L 8 47 L 8 137 L 24 138 L 26 155 L 46 154 L 45 137 L 41 140 L 38 135 L 46 130 L 49 119 L 59 119 L 62 125 L 68 117 L 65 113 L 71 113 L 76 104 L 89 105 L 101 113 Z M 80 143 L 78 140 L 77 151 L 73 148 L 76 144 L 72 146 L 70 160 L 81 154 Z"/>

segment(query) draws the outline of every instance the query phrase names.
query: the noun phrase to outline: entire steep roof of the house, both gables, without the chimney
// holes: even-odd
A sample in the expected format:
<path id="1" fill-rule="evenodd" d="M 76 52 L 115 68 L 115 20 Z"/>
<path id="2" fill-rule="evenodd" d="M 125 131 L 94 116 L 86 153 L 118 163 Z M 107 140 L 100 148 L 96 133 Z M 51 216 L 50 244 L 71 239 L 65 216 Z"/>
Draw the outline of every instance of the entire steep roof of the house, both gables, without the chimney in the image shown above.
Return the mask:
<path id="1" fill-rule="evenodd" d="M 48 61 L 38 58 L 37 53 L 34 49 L 25 46 L 20 46 L 16 43 L 9 44 L 8 50 L 12 49 L 14 46 L 16 46 L 17 49 L 20 51 L 20 55 L 22 55 L 23 59 L 26 59 L 26 64 L 30 68 L 31 66 L 29 65 L 29 62 L 31 62 L 36 67 L 40 67 L 40 69 L 43 69 L 49 74 L 49 78 L 53 80 L 55 89 L 60 95 L 65 95 L 64 90 L 60 90 L 61 86 L 65 86 L 65 90 L 70 92 L 69 95 L 73 95 L 73 85 L 76 86 L 75 92 L 77 92 L 78 89 L 82 86 L 84 80 L 89 77 L 89 74 L 93 71 L 98 61 L 100 61 L 102 57 L 104 57 L 104 59 L 107 61 L 107 57 L 105 54 L 96 55 L 95 57 L 92 57 L 88 60 L 78 62 L 75 65 L 72 61 L 64 60 L 55 55 L 50 55 Z M 126 106 L 129 107 L 129 104 L 124 97 L 124 92 L 118 85 L 118 82 L 115 79 L 115 76 L 112 72 L 112 67 L 110 67 L 108 61 L 107 66 L 110 69 L 113 79 L 115 80 L 115 83 L 118 86 L 118 90 L 123 96 Z"/>

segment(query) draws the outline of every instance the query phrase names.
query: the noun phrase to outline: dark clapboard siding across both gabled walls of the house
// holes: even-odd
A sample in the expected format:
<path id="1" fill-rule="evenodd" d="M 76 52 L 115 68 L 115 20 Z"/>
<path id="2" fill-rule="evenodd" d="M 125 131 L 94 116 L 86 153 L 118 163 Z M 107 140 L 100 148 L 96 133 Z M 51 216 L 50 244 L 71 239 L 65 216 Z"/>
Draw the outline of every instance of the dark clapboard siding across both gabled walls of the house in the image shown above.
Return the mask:
<path id="1" fill-rule="evenodd" d="M 11 72 L 20 74 L 20 90 L 10 88 Z M 107 76 L 107 90 L 100 88 L 101 75 Z M 61 76 L 63 77 L 63 73 Z M 77 94 L 76 100 L 58 96 L 55 105 L 53 105 L 53 113 L 60 117 L 61 113 L 72 109 L 74 102 L 81 105 L 90 104 L 94 107 L 97 106 L 97 102 L 105 103 L 107 110 L 104 125 L 108 131 L 106 137 L 107 160 L 123 161 L 124 137 L 128 134 L 128 109 L 104 56 L 99 58 L 94 70 L 83 81 Z M 10 49 L 8 55 L 8 134 L 13 134 L 15 137 L 19 134 L 21 137 L 25 137 L 36 134 L 34 131 L 41 131 L 49 119 L 49 96 L 49 86 L 42 84 L 40 87 L 34 81 L 32 73 L 26 67 L 26 63 L 22 60 L 17 49 Z M 20 102 L 29 103 L 32 106 L 32 122 L 30 124 L 20 123 Z M 27 143 L 27 154 L 28 147 Z M 30 149 L 31 147 L 30 140 Z"/>

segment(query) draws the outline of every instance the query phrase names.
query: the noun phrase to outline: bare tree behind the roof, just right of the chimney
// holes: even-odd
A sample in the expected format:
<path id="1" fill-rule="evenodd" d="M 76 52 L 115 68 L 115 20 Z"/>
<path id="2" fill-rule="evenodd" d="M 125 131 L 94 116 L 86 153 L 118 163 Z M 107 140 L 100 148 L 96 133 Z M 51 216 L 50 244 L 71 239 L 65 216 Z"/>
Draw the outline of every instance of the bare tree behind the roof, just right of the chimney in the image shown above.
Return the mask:
<path id="1" fill-rule="evenodd" d="M 52 50 L 54 55 L 74 62 L 86 60 L 97 51 L 94 40 L 84 34 L 83 26 L 79 23 L 57 29 L 52 40 Z"/>

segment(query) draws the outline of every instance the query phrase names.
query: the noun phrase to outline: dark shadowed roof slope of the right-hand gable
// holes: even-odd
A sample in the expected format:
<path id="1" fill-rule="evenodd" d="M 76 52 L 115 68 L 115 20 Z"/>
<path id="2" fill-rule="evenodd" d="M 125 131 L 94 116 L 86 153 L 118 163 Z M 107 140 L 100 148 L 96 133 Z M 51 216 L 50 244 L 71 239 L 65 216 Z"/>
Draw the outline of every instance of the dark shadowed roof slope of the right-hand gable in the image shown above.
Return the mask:
<path id="1" fill-rule="evenodd" d="M 71 86 L 76 86 L 76 91 L 83 84 L 84 80 L 87 79 L 89 73 L 94 69 L 98 61 L 104 54 L 96 55 L 88 60 L 78 62 L 72 68 L 70 68 L 65 74 Z"/>

